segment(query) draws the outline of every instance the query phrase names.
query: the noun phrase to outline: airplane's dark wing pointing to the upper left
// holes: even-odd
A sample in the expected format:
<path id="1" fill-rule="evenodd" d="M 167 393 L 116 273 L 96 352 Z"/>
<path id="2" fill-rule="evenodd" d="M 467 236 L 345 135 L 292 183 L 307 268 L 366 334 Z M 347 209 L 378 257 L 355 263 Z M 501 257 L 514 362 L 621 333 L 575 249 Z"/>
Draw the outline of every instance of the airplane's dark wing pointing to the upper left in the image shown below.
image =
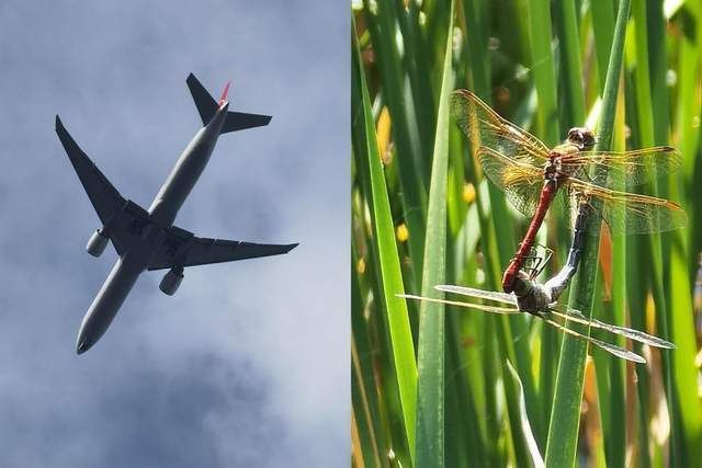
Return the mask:
<path id="1" fill-rule="evenodd" d="M 110 239 L 117 254 L 128 249 L 134 236 L 143 236 L 148 225 L 148 213 L 136 203 L 125 199 L 100 169 L 83 152 L 56 116 L 56 134 L 68 153 L 71 164 L 98 213 L 102 226 L 110 231 Z"/>

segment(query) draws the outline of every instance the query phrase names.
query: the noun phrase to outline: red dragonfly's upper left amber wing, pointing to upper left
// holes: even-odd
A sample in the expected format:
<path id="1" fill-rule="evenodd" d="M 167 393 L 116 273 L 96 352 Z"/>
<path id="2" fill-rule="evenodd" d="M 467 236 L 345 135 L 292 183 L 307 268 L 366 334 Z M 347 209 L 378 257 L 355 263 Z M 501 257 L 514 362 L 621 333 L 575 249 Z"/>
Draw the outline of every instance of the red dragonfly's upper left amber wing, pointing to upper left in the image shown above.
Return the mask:
<path id="1" fill-rule="evenodd" d="M 546 145 L 500 117 L 471 91 L 453 92 L 451 112 L 474 148 L 484 146 L 510 159 L 533 165 L 541 165 L 548 158 Z"/>

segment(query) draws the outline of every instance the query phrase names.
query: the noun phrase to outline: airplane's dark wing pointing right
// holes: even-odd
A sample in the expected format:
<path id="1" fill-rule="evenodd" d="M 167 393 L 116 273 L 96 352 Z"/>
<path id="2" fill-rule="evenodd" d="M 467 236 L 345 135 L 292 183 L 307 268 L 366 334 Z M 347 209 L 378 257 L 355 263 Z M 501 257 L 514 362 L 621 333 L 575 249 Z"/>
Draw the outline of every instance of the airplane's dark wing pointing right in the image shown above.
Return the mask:
<path id="1" fill-rule="evenodd" d="M 176 226 L 167 230 L 163 244 L 154 254 L 148 270 L 195 266 L 287 253 L 297 243 L 253 243 L 201 238 Z"/>

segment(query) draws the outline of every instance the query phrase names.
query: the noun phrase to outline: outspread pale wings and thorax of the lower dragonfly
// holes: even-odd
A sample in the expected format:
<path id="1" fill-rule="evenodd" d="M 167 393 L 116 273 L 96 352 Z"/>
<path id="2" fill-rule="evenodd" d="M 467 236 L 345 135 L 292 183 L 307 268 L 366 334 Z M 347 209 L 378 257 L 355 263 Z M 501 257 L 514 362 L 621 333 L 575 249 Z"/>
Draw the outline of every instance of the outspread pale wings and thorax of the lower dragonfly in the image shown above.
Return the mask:
<path id="1" fill-rule="evenodd" d="M 608 353 L 613 354 L 614 356 L 635 363 L 643 364 L 646 363 L 646 359 L 639 354 L 618 346 L 616 344 L 608 343 L 573 330 L 568 328 L 565 322 L 573 321 L 590 328 L 604 330 L 655 347 L 676 347 L 675 344 L 661 338 L 631 328 L 602 322 L 598 319 L 588 319 L 580 311 L 557 304 L 553 300 L 554 296 L 552 295 L 552 289 L 539 282 L 530 279 L 528 274 L 521 270 L 514 278 L 514 292 L 510 294 L 454 285 L 438 285 L 434 286 L 434 288 L 444 293 L 456 294 L 458 296 L 476 300 L 487 300 L 492 304 L 466 303 L 462 300 L 423 297 L 412 294 L 398 294 L 397 296 L 406 299 L 439 303 L 491 313 L 531 313 L 564 333 L 585 340 Z"/>

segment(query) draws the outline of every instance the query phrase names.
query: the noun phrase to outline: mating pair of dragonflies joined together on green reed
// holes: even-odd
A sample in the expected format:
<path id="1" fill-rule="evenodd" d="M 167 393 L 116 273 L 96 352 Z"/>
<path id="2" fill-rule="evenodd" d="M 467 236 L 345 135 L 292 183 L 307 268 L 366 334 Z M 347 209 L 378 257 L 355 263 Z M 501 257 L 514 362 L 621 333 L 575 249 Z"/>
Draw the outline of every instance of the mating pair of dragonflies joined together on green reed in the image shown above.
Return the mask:
<path id="1" fill-rule="evenodd" d="M 661 232 L 684 226 L 687 216 L 675 203 L 611 189 L 643 184 L 676 170 L 680 165 L 680 153 L 670 147 L 625 152 L 593 151 L 595 135 L 585 128 L 571 129 L 563 145 L 550 149 L 533 135 L 500 117 L 466 90 L 454 92 L 452 112 L 476 148 L 475 155 L 485 174 L 506 193 L 518 210 L 532 219 L 519 250 L 505 271 L 505 293 L 453 285 L 435 286 L 441 292 L 499 305 L 399 296 L 494 313 L 532 313 L 565 333 L 638 363 L 646 361 L 621 346 L 571 330 L 558 320 L 605 330 L 652 346 L 675 347 L 666 340 L 638 330 L 590 320 L 577 310 L 558 305 L 557 299 L 577 270 L 585 235 L 599 233 L 586 231 L 587 216 L 601 217 L 614 233 Z M 566 265 L 541 284 L 535 279 L 541 269 L 532 269 L 529 274 L 524 271 L 524 264 L 530 259 L 546 212 L 558 196 L 571 219 L 575 219 L 574 240 Z"/>

